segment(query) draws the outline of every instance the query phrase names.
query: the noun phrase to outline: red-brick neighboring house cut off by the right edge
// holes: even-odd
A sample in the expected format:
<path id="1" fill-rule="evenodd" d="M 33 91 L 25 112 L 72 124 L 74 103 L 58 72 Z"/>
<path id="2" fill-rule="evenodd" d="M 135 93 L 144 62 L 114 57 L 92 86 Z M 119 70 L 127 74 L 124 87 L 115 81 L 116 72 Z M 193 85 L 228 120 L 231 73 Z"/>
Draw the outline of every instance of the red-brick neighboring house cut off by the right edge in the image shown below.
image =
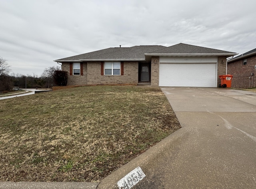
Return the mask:
<path id="1" fill-rule="evenodd" d="M 227 73 L 233 75 L 232 87 L 256 87 L 256 49 L 228 60 Z"/>

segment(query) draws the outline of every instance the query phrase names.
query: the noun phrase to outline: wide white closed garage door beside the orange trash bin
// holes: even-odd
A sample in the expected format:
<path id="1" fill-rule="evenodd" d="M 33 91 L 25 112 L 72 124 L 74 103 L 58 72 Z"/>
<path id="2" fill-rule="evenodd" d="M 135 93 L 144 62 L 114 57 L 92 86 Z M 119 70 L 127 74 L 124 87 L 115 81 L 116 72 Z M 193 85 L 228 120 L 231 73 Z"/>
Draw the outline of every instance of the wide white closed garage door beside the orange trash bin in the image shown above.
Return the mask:
<path id="1" fill-rule="evenodd" d="M 159 86 L 216 87 L 216 63 L 160 63 Z"/>

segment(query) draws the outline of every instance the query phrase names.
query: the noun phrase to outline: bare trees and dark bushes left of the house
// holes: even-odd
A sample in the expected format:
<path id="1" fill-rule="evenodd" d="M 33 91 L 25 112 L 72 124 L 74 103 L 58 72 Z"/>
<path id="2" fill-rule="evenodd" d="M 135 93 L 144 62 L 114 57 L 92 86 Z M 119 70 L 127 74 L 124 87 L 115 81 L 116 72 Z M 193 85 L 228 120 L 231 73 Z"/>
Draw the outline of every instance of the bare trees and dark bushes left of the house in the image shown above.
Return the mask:
<path id="1" fill-rule="evenodd" d="M 41 76 L 9 74 L 10 66 L 0 57 L 0 92 L 13 88 L 51 88 L 52 86 L 66 86 L 68 73 L 61 71 L 60 66 L 45 68 Z"/>

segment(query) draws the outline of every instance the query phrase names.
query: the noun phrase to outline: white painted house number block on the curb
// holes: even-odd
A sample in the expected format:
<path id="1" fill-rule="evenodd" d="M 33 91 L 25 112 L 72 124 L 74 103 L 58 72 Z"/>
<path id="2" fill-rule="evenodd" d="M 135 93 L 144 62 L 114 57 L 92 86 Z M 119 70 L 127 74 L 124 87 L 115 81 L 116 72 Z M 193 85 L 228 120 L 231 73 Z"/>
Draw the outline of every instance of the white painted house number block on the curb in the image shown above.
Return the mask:
<path id="1" fill-rule="evenodd" d="M 122 179 L 117 182 L 119 189 L 130 189 L 131 187 L 135 186 L 139 181 L 141 181 L 146 175 L 142 171 L 140 167 L 132 170 Z"/>

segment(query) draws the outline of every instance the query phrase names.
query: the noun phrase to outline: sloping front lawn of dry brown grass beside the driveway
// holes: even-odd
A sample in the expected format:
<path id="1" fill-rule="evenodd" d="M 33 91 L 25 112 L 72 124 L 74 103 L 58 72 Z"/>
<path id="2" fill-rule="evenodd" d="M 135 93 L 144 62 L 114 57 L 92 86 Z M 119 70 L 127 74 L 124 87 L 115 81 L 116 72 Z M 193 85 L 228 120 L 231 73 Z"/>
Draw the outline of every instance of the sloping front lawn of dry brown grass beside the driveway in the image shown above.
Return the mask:
<path id="1" fill-rule="evenodd" d="M 0 107 L 0 181 L 100 181 L 180 128 L 159 88 L 80 87 Z"/>

